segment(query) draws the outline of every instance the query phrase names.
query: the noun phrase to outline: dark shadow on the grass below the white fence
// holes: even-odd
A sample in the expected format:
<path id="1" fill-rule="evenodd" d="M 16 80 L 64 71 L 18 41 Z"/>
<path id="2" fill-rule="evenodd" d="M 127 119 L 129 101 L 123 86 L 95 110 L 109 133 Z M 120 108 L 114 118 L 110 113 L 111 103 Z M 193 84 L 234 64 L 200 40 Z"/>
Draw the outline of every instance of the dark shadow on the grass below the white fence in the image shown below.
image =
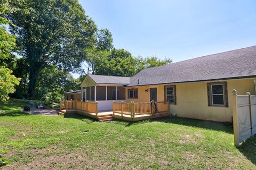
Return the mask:
<path id="1" fill-rule="evenodd" d="M 254 165 L 256 165 L 256 135 L 244 141 L 238 150 Z"/>

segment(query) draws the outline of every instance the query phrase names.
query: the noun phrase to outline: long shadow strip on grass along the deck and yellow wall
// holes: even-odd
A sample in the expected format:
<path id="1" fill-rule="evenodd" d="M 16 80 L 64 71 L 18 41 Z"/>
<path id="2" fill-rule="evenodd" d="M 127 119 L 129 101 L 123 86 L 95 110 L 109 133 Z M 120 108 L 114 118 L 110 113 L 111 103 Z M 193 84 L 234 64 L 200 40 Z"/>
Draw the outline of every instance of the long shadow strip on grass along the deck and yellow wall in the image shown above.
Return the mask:
<path id="1" fill-rule="evenodd" d="M 209 129 L 214 131 L 222 131 L 226 133 L 233 134 L 233 128 L 227 124 L 222 122 L 215 122 L 215 121 L 204 121 L 204 120 L 196 120 L 193 118 L 182 118 L 182 117 L 163 117 L 151 120 L 143 120 L 138 122 L 128 122 L 126 126 L 142 124 L 142 123 L 149 123 L 149 122 L 163 122 L 163 123 L 172 123 L 172 124 L 179 124 L 184 126 L 191 126 L 195 128 L 203 128 Z"/>

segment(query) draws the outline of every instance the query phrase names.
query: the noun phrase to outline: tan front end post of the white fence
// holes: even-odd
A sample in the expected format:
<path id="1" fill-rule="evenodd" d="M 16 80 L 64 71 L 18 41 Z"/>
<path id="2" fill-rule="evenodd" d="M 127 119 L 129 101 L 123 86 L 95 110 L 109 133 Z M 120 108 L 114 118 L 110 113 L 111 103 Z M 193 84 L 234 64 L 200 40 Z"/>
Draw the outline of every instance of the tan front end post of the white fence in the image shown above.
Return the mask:
<path id="1" fill-rule="evenodd" d="M 233 107 L 233 127 L 234 127 L 234 143 L 235 146 L 239 146 L 238 137 L 238 115 L 237 115 L 237 91 L 234 89 L 232 90 L 232 107 Z"/>

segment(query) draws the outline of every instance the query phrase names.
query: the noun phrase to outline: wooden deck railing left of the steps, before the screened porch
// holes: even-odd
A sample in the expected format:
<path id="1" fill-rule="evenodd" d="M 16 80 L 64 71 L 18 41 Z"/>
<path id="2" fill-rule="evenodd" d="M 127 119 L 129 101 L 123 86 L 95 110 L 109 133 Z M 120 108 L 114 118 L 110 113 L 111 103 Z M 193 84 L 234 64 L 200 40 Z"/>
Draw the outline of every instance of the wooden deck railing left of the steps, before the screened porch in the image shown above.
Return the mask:
<path id="1" fill-rule="evenodd" d="M 60 100 L 60 109 L 84 111 L 98 115 L 97 101 Z"/>

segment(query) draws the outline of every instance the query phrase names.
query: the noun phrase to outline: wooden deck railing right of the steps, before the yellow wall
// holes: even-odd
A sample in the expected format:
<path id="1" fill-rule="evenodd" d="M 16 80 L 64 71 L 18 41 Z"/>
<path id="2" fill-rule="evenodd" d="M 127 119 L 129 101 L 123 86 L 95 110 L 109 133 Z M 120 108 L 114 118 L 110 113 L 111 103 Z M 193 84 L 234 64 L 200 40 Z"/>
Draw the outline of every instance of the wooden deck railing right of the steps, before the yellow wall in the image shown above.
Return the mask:
<path id="1" fill-rule="evenodd" d="M 161 102 L 145 102 L 145 103 L 124 103 L 113 101 L 113 115 L 115 113 L 123 115 L 131 115 L 134 118 L 135 115 L 169 112 L 169 103 L 167 101 Z"/>

